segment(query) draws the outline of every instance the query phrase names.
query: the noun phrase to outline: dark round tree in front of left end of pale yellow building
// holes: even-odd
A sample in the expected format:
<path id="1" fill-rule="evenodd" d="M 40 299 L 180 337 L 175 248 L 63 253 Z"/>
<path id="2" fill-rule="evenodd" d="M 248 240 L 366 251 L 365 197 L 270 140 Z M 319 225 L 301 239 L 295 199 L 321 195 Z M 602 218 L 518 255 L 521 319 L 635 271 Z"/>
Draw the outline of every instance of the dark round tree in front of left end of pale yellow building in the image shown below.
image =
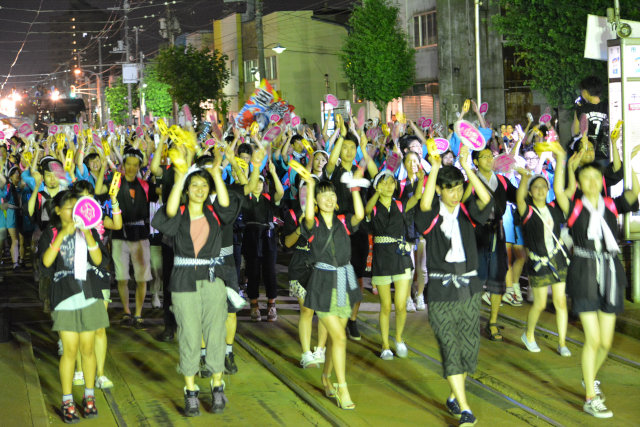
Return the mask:
<path id="1" fill-rule="evenodd" d="M 158 54 L 158 75 L 160 81 L 170 86 L 173 99 L 178 104 L 187 104 L 193 116 L 199 118 L 202 101 L 211 99 L 218 107 L 224 105 L 222 89 L 229 81 L 228 59 L 218 50 L 168 47 Z"/>

